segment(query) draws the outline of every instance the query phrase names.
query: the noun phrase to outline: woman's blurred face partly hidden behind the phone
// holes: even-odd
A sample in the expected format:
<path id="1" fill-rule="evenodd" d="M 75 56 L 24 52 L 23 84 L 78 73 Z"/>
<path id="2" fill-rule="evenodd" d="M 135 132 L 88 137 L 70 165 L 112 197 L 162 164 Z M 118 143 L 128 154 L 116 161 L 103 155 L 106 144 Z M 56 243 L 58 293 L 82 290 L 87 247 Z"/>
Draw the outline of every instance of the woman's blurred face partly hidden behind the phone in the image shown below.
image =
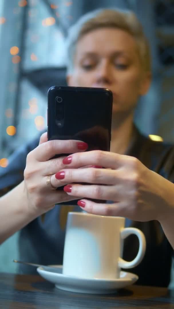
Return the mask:
<path id="1" fill-rule="evenodd" d="M 77 43 L 74 70 L 67 80 L 69 86 L 110 89 L 113 113 L 129 113 L 148 90 L 150 74 L 142 71 L 136 42 L 128 32 L 100 28 Z"/>

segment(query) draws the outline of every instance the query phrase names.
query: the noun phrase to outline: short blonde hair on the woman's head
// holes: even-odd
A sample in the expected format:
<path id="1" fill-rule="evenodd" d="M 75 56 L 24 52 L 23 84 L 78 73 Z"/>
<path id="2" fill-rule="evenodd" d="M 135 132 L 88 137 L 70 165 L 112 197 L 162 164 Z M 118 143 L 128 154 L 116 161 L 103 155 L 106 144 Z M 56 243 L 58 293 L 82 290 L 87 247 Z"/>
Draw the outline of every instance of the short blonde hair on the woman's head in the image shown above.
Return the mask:
<path id="1" fill-rule="evenodd" d="M 106 27 L 125 30 L 131 34 L 137 43 L 138 55 L 143 70 L 151 70 L 150 47 L 136 15 L 127 10 L 99 9 L 83 15 L 69 28 L 66 39 L 68 73 L 73 71 L 74 54 L 80 38 L 92 30 Z"/>

